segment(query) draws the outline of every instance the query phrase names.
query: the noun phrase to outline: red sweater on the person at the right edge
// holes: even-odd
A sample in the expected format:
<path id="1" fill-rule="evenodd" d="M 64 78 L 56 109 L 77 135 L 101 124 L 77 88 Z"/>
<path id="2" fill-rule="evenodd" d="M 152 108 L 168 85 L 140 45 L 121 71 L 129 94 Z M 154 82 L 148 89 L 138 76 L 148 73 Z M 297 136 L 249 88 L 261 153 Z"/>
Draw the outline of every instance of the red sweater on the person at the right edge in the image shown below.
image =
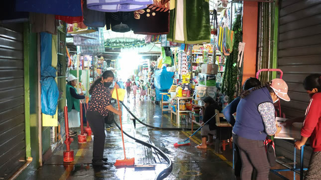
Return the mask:
<path id="1" fill-rule="evenodd" d="M 310 137 L 313 151 L 321 151 L 321 92 L 314 94 L 310 100 L 301 135 Z"/>

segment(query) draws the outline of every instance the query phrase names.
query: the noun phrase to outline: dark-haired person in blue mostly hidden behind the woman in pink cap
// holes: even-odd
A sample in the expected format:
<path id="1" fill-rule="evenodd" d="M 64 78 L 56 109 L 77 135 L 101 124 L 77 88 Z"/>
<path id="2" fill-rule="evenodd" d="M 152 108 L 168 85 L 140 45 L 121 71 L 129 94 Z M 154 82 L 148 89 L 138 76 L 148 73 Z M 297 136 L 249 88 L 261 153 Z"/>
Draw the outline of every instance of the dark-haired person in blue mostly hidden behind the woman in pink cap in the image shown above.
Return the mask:
<path id="1" fill-rule="evenodd" d="M 245 80 L 243 84 L 243 91 L 249 90 L 250 88 L 256 87 L 261 85 L 261 82 L 256 79 L 255 77 L 250 77 Z M 241 97 L 235 98 L 231 103 L 229 103 L 223 110 L 224 118 L 230 123 L 232 126 L 235 124 L 235 119 L 233 117 L 233 114 L 236 113 L 236 108 L 238 103 L 240 102 Z M 233 142 L 234 143 L 234 142 Z M 235 146 L 235 169 L 234 169 L 234 175 L 236 180 L 241 180 L 241 169 L 242 169 L 242 161 L 240 157 L 240 153 L 238 150 L 238 147 Z"/>

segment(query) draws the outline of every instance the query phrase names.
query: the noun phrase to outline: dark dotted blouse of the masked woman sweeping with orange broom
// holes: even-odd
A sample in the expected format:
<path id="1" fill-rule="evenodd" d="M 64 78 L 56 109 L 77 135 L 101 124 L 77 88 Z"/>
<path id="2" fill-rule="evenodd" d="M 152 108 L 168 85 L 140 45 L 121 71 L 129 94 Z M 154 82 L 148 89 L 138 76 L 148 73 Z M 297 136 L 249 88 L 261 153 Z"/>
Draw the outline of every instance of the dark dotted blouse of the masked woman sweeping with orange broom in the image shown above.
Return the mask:
<path id="1" fill-rule="evenodd" d="M 109 88 L 106 88 L 103 83 L 100 82 L 93 90 L 88 111 L 96 111 L 106 117 L 108 115 L 106 107 L 110 105 L 110 100 L 111 94 Z"/>

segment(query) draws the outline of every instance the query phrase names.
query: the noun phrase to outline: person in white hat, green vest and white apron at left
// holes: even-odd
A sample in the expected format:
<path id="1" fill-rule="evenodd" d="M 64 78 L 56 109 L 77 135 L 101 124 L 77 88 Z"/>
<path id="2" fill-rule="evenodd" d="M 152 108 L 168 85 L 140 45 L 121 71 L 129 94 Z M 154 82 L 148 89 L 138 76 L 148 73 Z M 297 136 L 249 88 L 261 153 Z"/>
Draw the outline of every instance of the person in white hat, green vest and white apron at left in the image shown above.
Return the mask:
<path id="1" fill-rule="evenodd" d="M 80 126 L 80 99 L 85 99 L 84 93 L 77 94 L 77 79 L 74 75 L 70 75 L 67 78 L 66 84 L 66 99 L 68 107 L 68 122 L 70 135 L 76 135 L 77 132 L 74 130 L 75 127 Z"/>

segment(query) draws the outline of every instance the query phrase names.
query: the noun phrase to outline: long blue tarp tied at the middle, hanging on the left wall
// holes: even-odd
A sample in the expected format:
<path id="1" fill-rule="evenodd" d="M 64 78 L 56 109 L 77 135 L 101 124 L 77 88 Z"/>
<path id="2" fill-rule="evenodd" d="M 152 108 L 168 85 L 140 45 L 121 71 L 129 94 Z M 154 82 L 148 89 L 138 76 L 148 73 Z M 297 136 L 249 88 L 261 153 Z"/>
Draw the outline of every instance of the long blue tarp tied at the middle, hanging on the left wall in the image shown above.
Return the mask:
<path id="1" fill-rule="evenodd" d="M 55 81 L 56 69 L 51 66 L 52 60 L 52 35 L 40 33 L 41 56 L 41 112 L 53 116 L 56 114 L 59 90 Z"/>

